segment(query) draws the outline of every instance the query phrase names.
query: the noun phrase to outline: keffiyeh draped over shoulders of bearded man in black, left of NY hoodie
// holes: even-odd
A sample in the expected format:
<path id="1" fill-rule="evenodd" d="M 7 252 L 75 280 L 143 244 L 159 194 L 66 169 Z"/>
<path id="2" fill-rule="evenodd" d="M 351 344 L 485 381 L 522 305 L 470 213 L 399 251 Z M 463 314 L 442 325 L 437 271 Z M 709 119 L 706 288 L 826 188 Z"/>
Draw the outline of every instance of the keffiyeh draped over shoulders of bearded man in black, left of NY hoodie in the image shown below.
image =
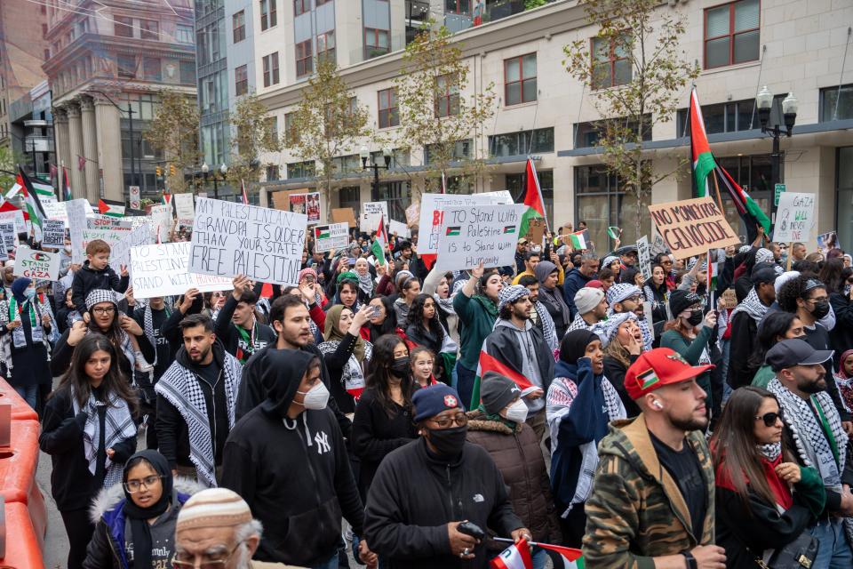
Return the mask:
<path id="1" fill-rule="evenodd" d="M 225 354 L 222 363 L 222 375 L 225 379 L 225 397 L 228 410 L 228 429 L 234 427 L 235 402 L 243 365 L 232 356 Z M 207 416 L 207 403 L 204 401 L 201 381 L 192 371 L 178 362 L 172 363 L 160 381 L 155 392 L 174 405 L 180 416 L 187 422 L 189 437 L 189 459 L 195 464 L 198 481 L 203 485 L 216 487 L 216 461 L 213 455 L 213 437 L 211 424 Z"/>

